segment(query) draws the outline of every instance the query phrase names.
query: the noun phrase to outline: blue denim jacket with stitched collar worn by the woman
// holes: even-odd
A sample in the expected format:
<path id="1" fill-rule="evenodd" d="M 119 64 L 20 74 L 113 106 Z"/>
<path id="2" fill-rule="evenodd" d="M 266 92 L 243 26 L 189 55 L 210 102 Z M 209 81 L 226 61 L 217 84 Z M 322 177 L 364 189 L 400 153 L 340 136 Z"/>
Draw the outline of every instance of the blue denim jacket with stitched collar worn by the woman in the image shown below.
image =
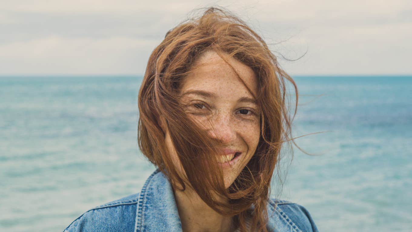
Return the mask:
<path id="1" fill-rule="evenodd" d="M 268 231 L 318 232 L 309 212 L 298 204 L 269 199 Z M 147 178 L 141 191 L 91 208 L 64 232 L 181 232 L 173 189 L 159 170 Z"/>

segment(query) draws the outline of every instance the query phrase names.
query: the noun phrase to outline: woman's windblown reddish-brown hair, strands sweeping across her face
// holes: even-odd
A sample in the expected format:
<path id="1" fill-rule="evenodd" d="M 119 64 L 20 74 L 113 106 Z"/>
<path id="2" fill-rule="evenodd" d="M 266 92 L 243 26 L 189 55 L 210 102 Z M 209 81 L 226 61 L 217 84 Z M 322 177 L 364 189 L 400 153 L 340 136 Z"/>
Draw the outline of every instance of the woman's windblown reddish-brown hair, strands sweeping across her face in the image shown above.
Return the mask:
<path id="1" fill-rule="evenodd" d="M 179 103 L 181 83 L 194 68 L 197 57 L 206 50 L 217 52 L 227 64 L 228 58 L 223 54 L 228 54 L 253 69 L 258 78 L 258 92 L 254 97 L 262 112 L 260 140 L 255 154 L 227 189 L 221 168 L 208 165 L 216 163 L 217 148 L 221 144 L 191 120 Z M 229 66 L 240 78 L 233 66 Z M 138 95 L 139 147 L 172 183 L 180 184 L 181 191 L 187 186 L 193 188 L 215 211 L 234 216 L 233 223 L 241 231 L 249 230 L 248 222 L 250 231 L 267 232 L 270 183 L 279 164 L 282 144 L 291 140 L 295 116 L 291 116 L 287 104 L 288 81 L 296 94 L 296 114 L 296 84 L 279 67 L 265 41 L 234 14 L 210 7 L 199 17 L 183 21 L 168 31 L 150 55 Z M 179 174 L 171 160 L 165 130 L 170 133 L 187 178 Z"/>

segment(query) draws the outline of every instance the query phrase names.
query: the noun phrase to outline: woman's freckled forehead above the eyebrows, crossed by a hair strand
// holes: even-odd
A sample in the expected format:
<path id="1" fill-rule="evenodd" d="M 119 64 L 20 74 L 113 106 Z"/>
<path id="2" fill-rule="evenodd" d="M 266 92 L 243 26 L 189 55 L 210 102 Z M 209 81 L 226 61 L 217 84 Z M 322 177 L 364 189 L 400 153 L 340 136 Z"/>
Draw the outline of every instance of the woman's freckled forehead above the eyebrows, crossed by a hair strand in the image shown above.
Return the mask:
<path id="1" fill-rule="evenodd" d="M 239 80 L 236 73 L 218 53 L 209 50 L 202 53 L 194 62 L 192 70 L 183 80 L 181 91 L 204 89 L 217 92 L 219 95 L 256 96 L 258 80 L 253 69 L 233 57 L 228 57 L 229 55 L 226 53 L 221 54 L 236 70 L 241 80 Z M 248 91 L 245 84 L 252 91 L 253 95 Z"/>

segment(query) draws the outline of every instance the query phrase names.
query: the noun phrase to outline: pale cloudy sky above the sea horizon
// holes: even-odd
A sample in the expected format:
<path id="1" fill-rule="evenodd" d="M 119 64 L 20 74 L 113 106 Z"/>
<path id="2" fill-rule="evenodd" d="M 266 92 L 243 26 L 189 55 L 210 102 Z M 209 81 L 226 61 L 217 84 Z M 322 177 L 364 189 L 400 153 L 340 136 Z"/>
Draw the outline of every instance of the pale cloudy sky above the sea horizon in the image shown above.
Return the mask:
<path id="1" fill-rule="evenodd" d="M 0 5 L 0 76 L 143 75 L 165 33 L 194 9 L 213 5 L 252 26 L 291 75 L 412 74 L 410 0 L 0 0 Z"/>

